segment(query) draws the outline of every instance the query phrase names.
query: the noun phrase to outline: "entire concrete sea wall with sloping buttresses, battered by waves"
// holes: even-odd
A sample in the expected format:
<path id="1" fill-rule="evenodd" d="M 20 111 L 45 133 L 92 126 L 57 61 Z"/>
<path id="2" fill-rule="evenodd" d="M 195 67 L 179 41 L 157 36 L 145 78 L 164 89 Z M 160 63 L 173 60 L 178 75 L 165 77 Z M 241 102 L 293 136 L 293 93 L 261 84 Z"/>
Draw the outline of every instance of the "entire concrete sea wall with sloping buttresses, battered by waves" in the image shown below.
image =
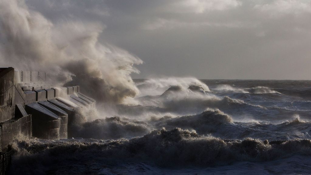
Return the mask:
<path id="1" fill-rule="evenodd" d="M 10 163 L 14 139 L 67 139 L 76 111 L 95 106 L 80 86 L 53 87 L 45 72 L 0 68 L 0 174 Z"/>

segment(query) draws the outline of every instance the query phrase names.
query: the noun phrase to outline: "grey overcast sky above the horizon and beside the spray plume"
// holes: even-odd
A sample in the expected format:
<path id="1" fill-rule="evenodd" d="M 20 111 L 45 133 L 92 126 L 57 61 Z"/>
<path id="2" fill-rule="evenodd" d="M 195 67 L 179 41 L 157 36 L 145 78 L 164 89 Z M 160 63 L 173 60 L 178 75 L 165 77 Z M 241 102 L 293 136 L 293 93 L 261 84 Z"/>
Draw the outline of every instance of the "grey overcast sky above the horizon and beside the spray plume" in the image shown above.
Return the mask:
<path id="1" fill-rule="evenodd" d="M 57 25 L 94 21 L 151 76 L 311 79 L 310 0 L 26 0 Z"/>

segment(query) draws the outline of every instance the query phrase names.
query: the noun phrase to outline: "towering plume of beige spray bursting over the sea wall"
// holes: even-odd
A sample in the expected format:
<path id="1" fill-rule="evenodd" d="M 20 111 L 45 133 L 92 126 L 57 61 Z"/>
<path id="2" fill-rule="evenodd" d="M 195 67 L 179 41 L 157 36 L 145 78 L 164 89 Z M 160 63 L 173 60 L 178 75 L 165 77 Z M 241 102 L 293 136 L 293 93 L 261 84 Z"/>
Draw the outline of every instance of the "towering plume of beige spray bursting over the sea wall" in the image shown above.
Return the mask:
<path id="1" fill-rule="evenodd" d="M 104 25 L 96 21 L 52 23 L 22 0 L 0 0 L 0 29 L 2 66 L 48 72 L 52 82 L 78 84 L 97 102 L 120 103 L 139 92 L 130 74 L 142 60 L 101 44 Z"/>

